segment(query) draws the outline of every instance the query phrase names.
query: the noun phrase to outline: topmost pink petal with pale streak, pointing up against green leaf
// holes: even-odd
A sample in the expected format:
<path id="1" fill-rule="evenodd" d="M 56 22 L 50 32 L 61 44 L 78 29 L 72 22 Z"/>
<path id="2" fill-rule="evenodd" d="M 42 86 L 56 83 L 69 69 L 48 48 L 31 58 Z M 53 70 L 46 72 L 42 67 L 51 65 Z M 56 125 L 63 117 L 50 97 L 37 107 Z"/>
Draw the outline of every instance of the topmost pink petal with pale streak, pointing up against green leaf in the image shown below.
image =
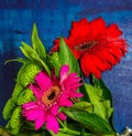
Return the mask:
<path id="1" fill-rule="evenodd" d="M 61 83 L 68 76 L 68 71 L 69 71 L 69 66 L 68 65 L 63 65 L 61 69 Z"/>

